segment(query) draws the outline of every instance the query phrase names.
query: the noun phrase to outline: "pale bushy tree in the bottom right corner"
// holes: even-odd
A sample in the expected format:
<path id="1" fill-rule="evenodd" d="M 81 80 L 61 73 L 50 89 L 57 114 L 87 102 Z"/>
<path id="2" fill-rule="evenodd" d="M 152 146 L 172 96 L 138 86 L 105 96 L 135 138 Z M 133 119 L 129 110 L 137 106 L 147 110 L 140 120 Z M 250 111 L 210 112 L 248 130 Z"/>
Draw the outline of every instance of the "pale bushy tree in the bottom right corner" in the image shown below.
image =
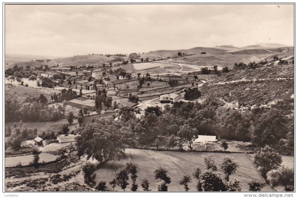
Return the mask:
<path id="1" fill-rule="evenodd" d="M 271 180 L 270 183 L 272 186 L 283 185 L 285 186 L 285 191 L 294 190 L 294 169 L 287 168 L 282 166 L 277 171 L 274 171 L 270 174 Z"/>

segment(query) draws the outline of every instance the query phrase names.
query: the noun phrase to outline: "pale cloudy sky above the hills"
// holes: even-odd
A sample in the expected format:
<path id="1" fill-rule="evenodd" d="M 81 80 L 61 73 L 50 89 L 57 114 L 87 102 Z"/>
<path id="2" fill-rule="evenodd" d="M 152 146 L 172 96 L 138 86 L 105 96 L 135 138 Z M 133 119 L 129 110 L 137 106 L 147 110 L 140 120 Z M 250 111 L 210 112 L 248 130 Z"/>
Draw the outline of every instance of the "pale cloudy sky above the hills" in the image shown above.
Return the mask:
<path id="1" fill-rule="evenodd" d="M 291 4 L 5 5 L 5 54 L 294 45 Z"/>

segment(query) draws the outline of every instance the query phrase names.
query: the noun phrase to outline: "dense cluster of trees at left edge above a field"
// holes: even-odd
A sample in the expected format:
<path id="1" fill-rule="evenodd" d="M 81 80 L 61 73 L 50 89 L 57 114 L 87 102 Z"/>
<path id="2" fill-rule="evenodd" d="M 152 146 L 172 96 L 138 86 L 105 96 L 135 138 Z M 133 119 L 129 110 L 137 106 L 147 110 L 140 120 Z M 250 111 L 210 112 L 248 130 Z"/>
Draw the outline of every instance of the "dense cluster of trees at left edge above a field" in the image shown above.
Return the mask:
<path id="1" fill-rule="evenodd" d="M 57 121 L 63 116 L 61 105 L 48 106 L 44 95 L 24 100 L 5 100 L 5 122 Z"/>

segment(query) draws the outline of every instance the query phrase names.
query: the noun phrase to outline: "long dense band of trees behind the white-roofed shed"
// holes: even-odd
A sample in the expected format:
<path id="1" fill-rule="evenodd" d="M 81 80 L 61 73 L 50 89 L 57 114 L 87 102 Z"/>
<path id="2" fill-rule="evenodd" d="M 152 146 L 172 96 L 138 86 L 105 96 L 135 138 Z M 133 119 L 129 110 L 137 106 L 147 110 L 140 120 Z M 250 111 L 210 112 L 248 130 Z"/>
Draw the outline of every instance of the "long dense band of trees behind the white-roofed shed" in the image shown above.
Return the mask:
<path id="1" fill-rule="evenodd" d="M 294 145 L 294 127 L 289 124 L 291 119 L 279 107 L 238 111 L 223 107 L 213 100 L 206 100 L 201 104 L 175 102 L 171 107 L 166 106 L 164 111 L 160 107 L 150 108 L 156 110 L 148 111 L 140 120 L 134 118 L 133 109 L 125 108 L 121 111 L 127 115 L 124 121 L 139 136 L 178 136 L 180 127 L 187 124 L 196 129 L 198 135 L 220 134 L 227 139 L 252 141 L 256 147 L 269 145 L 288 151 Z"/>

